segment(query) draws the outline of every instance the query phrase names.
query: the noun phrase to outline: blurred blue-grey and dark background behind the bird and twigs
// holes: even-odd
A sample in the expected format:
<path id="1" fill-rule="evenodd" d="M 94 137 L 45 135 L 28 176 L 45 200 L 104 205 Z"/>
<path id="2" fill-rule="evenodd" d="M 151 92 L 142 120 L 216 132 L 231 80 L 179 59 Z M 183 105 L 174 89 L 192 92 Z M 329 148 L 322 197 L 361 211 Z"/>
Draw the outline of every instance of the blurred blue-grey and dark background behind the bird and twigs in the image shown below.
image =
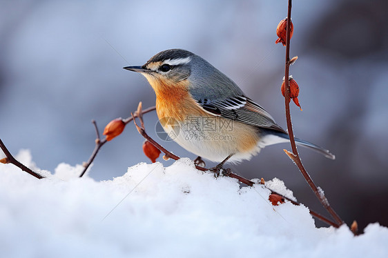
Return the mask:
<path id="1" fill-rule="evenodd" d="M 342 219 L 356 219 L 360 228 L 388 226 L 387 10 L 385 0 L 300 0 L 291 14 L 291 57 L 299 57 L 291 75 L 303 108 L 291 102 L 295 135 L 336 155 L 331 161 L 299 148 L 302 161 Z M 122 67 L 169 48 L 204 57 L 286 128 L 285 48 L 275 45 L 286 16 L 286 0 L 0 1 L 0 138 L 14 154 L 29 149 L 51 172 L 61 162 L 87 161 L 95 146 L 92 119 L 102 131 L 139 101 L 155 105 L 146 79 Z M 156 122 L 155 113 L 145 115 L 155 139 Z M 101 149 L 90 176 L 111 179 L 149 163 L 143 141 L 130 123 Z M 298 201 L 327 215 L 283 148 L 291 149 L 269 146 L 231 167 L 248 178 L 278 177 Z"/>

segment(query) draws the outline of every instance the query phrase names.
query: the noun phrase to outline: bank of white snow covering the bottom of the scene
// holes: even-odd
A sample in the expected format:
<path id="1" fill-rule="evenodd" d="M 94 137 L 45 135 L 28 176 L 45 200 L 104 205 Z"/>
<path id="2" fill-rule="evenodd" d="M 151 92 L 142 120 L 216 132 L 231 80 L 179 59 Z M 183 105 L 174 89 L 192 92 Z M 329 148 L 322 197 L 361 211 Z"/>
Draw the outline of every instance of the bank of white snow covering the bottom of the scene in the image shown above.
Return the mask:
<path id="1" fill-rule="evenodd" d="M 30 152 L 17 159 L 36 170 Z M 0 166 L 1 257 L 387 257 L 388 229 L 316 228 L 309 210 L 271 206 L 269 190 L 195 170 L 139 163 L 95 181 L 61 163 L 36 179 Z M 255 179 L 258 180 L 258 179 Z M 294 198 L 280 179 L 266 186 Z"/>

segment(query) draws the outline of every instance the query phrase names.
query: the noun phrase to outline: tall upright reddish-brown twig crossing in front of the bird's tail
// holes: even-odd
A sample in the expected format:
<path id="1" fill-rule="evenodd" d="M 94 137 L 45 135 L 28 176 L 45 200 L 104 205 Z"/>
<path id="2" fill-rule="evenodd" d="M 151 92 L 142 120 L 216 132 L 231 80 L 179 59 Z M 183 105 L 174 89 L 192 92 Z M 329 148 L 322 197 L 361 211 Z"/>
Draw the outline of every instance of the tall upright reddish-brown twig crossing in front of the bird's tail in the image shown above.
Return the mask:
<path id="1" fill-rule="evenodd" d="M 311 190 L 315 193 L 316 197 L 324 206 L 324 208 L 329 212 L 331 217 L 337 222 L 337 224 L 342 225 L 344 222 L 342 219 L 338 216 L 338 214 L 331 208 L 329 201 L 327 201 L 327 198 L 324 196 L 324 193 L 322 190 L 319 190 L 316 184 L 313 182 L 313 179 L 309 176 L 309 173 L 304 168 L 302 161 L 300 160 L 298 149 L 296 148 L 295 139 L 293 136 L 293 128 L 292 128 L 292 122 L 291 122 L 291 113 L 290 113 L 290 107 L 289 107 L 289 101 L 290 101 L 290 86 L 289 86 L 289 67 L 291 65 L 290 61 L 290 31 L 291 31 L 291 7 L 292 7 L 292 0 L 289 0 L 289 7 L 288 7 L 288 14 L 287 14 L 287 36 L 286 36 L 286 65 L 285 65 L 285 71 L 284 71 L 284 82 L 286 89 L 284 94 L 284 101 L 286 106 L 286 119 L 287 119 L 287 130 L 289 132 L 289 138 L 291 142 L 291 148 L 293 151 L 293 154 L 286 152 L 287 155 L 295 162 L 296 166 L 298 166 L 300 172 L 302 172 L 302 175 L 304 179 L 306 179 L 307 183 L 309 183 L 309 186 L 311 187 Z"/>

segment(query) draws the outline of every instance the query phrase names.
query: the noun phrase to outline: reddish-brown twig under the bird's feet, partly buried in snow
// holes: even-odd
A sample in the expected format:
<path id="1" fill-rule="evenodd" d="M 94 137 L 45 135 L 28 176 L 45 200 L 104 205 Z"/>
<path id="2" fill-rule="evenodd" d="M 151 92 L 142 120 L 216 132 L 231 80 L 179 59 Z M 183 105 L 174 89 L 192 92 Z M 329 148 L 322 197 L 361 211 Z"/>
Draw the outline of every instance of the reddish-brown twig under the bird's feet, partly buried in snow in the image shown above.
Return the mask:
<path id="1" fill-rule="evenodd" d="M 142 106 L 141 106 L 141 102 L 139 103 L 139 107 L 137 108 L 137 117 L 139 118 L 140 120 L 140 124 L 141 126 L 138 126 L 137 123 L 136 123 L 136 119 L 135 119 L 135 115 L 133 115 L 133 113 L 131 113 L 132 115 L 132 118 L 133 118 L 133 123 L 135 124 L 136 126 L 136 129 L 137 129 L 137 132 L 139 132 L 140 135 L 142 135 L 142 137 L 144 137 L 145 139 L 147 139 L 153 146 L 155 146 L 157 149 L 159 149 L 160 151 L 162 151 L 164 153 L 164 155 L 166 155 L 166 157 L 169 157 L 171 159 L 174 159 L 174 160 L 178 160 L 180 159 L 179 156 L 169 152 L 168 150 L 166 150 L 166 148 L 164 148 L 163 146 L 161 146 L 159 143 L 157 143 L 153 138 L 151 138 L 147 133 L 146 133 L 146 129 L 144 128 L 144 121 L 142 119 Z M 197 170 L 201 170 L 201 171 L 208 171 L 209 169 L 208 168 L 204 168 L 202 166 L 197 166 L 195 164 L 195 168 L 197 168 Z M 234 174 L 233 172 L 228 172 L 228 173 L 223 173 L 223 175 L 226 175 L 228 177 L 232 177 L 232 178 L 235 178 L 237 179 L 238 181 L 240 181 L 241 183 L 244 183 L 246 184 L 247 186 L 254 186 L 255 183 L 249 179 L 246 179 L 244 177 L 241 177 L 239 175 L 236 175 Z M 258 184 L 261 184 L 264 186 L 264 183 L 262 183 L 261 181 L 258 182 Z M 265 188 L 269 189 L 268 187 L 264 186 Z M 287 199 L 288 201 L 291 201 L 292 204 L 296 205 L 296 206 L 300 206 L 300 204 L 296 201 L 293 201 L 292 199 L 289 199 L 289 197 L 285 197 L 284 195 L 281 195 L 280 193 L 278 192 L 275 192 L 274 190 L 271 190 L 269 189 L 273 194 L 276 194 L 276 195 L 280 195 L 281 197 L 283 197 L 284 199 Z M 335 222 L 331 221 L 330 219 L 327 219 L 326 217 L 323 217 L 322 215 L 318 214 L 317 212 L 314 212 L 312 210 L 309 210 L 310 211 L 310 214 L 314 217 L 316 217 L 317 219 L 320 219 L 321 221 L 331 225 L 331 226 L 334 226 L 336 228 L 339 227 L 338 224 L 336 224 Z"/>

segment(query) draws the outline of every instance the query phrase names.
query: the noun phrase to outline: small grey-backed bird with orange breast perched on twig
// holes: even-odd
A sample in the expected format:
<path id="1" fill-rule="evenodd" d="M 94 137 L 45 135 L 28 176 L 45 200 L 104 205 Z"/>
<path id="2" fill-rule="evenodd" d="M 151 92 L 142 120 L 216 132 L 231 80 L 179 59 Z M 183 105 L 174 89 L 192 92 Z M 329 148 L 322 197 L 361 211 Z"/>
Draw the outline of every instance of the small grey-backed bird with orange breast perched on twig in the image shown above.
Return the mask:
<path id="1" fill-rule="evenodd" d="M 168 135 L 180 146 L 205 159 L 238 162 L 260 149 L 289 141 L 289 135 L 262 106 L 202 57 L 187 50 L 155 54 L 139 72 L 156 94 L 156 112 Z M 296 139 L 304 147 L 335 159 L 329 150 Z"/>

